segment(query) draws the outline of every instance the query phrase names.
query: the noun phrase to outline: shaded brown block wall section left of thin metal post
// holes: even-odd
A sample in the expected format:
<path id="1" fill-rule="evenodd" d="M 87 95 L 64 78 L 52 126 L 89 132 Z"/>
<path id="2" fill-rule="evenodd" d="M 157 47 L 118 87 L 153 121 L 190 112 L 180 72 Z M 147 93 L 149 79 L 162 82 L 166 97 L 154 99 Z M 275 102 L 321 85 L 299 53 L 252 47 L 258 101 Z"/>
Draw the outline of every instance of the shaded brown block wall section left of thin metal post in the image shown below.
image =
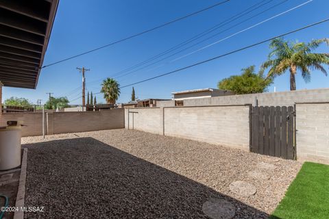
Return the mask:
<path id="1" fill-rule="evenodd" d="M 42 112 L 14 112 L 1 115 L 0 125 L 7 125 L 8 120 L 17 120 L 22 127 L 22 136 L 42 135 Z"/>

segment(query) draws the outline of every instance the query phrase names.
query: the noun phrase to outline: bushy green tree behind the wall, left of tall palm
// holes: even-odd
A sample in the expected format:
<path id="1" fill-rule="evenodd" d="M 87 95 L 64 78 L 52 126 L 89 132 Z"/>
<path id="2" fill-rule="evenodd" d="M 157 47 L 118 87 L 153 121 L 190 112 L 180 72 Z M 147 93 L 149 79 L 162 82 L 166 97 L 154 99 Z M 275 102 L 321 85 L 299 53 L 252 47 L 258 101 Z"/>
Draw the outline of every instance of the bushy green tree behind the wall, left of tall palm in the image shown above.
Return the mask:
<path id="1" fill-rule="evenodd" d="M 222 90 L 231 90 L 236 94 L 254 94 L 267 91 L 272 80 L 265 79 L 263 71 L 255 72 L 255 66 L 241 70 L 241 75 L 233 75 L 218 82 L 217 87 Z"/>

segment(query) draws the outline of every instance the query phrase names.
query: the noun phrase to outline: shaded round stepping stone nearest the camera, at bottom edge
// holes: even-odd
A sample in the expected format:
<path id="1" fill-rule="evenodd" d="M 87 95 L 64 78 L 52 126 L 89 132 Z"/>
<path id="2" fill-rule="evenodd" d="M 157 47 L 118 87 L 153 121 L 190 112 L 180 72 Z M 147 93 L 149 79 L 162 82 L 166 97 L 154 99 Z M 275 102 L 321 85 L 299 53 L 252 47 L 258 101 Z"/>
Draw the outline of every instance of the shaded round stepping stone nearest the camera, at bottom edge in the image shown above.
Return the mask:
<path id="1" fill-rule="evenodd" d="M 231 219 L 235 216 L 235 207 L 221 198 L 210 198 L 202 205 L 204 214 L 212 219 Z"/>

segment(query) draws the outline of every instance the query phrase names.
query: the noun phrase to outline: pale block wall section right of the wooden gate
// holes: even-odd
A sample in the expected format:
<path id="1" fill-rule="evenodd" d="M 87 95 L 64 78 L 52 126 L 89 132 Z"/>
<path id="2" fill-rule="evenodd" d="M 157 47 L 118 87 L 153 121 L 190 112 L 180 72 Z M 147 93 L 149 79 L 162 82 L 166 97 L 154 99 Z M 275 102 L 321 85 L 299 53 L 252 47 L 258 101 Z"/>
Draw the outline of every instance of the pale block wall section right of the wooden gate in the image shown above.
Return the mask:
<path id="1" fill-rule="evenodd" d="M 329 103 L 296 104 L 297 159 L 329 164 Z"/>

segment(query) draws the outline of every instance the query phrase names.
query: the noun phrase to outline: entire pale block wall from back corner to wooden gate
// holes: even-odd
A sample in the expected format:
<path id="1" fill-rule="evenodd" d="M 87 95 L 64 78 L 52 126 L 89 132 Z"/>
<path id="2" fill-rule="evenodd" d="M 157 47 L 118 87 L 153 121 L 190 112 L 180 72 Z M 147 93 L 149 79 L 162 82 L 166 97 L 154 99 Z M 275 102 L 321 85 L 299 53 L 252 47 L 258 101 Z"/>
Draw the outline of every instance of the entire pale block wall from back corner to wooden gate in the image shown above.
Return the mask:
<path id="1" fill-rule="evenodd" d="M 249 105 L 125 110 L 125 128 L 249 150 Z"/>

